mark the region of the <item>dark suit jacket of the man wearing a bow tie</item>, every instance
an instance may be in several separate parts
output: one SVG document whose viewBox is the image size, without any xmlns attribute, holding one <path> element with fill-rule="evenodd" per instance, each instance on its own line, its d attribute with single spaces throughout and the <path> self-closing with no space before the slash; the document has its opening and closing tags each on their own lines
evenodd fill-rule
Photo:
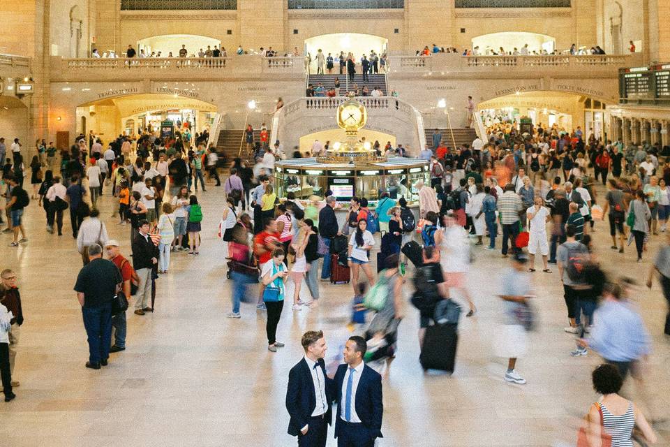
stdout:
<svg viewBox="0 0 670 447">
<path fill-rule="evenodd" d="M 332 423 L 332 402 L 333 402 L 333 379 L 326 375 L 326 367 L 323 359 L 319 359 L 318 364 L 321 367 L 323 376 L 326 379 L 326 413 L 325 420 Z M 309 365 L 303 358 L 291 368 L 288 373 L 288 388 L 286 390 L 286 409 L 291 416 L 288 423 L 288 434 L 297 436 L 302 427 L 307 425 L 309 418 L 314 412 L 316 406 L 316 395 L 314 393 L 314 382 Z"/>
</svg>

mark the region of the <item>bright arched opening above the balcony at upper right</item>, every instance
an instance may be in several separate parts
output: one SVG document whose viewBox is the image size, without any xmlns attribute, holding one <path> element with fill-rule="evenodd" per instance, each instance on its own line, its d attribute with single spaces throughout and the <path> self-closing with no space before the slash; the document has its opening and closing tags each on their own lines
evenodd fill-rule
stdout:
<svg viewBox="0 0 670 447">
<path fill-rule="evenodd" d="M 524 31 L 505 31 L 484 34 L 472 38 L 472 48 L 479 47 L 479 54 L 500 54 L 500 47 L 505 54 L 513 54 L 514 49 L 528 54 L 551 54 L 556 49 L 556 38 L 546 34 L 528 33 Z"/>
</svg>

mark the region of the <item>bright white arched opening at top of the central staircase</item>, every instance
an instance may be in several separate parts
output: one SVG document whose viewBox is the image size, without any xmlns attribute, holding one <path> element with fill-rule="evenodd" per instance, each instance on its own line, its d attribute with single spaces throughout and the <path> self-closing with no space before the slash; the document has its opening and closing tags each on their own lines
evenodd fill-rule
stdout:
<svg viewBox="0 0 670 447">
<path fill-rule="evenodd" d="M 315 59 L 319 49 L 325 53 L 325 56 L 331 53 L 333 57 L 343 51 L 344 54 L 354 54 L 358 61 L 363 54 L 370 54 L 371 50 L 377 54 L 383 54 L 388 50 L 388 44 L 389 40 L 387 38 L 374 36 L 373 34 L 322 34 L 321 36 L 305 39 L 305 52 L 311 54 L 312 59 Z"/>
</svg>

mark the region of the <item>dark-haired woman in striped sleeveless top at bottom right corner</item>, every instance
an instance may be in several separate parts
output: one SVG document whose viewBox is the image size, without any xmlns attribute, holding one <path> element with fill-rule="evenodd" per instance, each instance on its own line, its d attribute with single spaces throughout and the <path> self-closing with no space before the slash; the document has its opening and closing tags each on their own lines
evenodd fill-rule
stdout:
<svg viewBox="0 0 670 447">
<path fill-rule="evenodd" d="M 623 379 L 616 366 L 600 365 L 593 370 L 591 378 L 593 388 L 596 393 L 602 394 L 602 399 L 591 405 L 588 411 L 589 445 L 600 447 L 601 430 L 604 430 L 604 434 L 612 439 L 612 447 L 633 447 L 631 436 L 635 426 L 642 432 L 648 444 L 655 444 L 656 434 L 639 408 L 630 400 L 618 395 Z"/>
</svg>

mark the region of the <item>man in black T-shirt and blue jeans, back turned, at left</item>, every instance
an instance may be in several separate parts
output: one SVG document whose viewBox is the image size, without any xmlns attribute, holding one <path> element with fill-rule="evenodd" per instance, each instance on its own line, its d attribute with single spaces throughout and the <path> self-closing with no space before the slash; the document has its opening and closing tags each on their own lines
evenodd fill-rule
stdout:
<svg viewBox="0 0 670 447">
<path fill-rule="evenodd" d="M 82 306 L 84 328 L 89 342 L 89 361 L 86 367 L 107 366 L 112 335 L 112 300 L 121 285 L 121 273 L 114 263 L 103 259 L 103 247 L 87 247 L 89 263 L 77 276 L 75 291 Z"/>
</svg>

